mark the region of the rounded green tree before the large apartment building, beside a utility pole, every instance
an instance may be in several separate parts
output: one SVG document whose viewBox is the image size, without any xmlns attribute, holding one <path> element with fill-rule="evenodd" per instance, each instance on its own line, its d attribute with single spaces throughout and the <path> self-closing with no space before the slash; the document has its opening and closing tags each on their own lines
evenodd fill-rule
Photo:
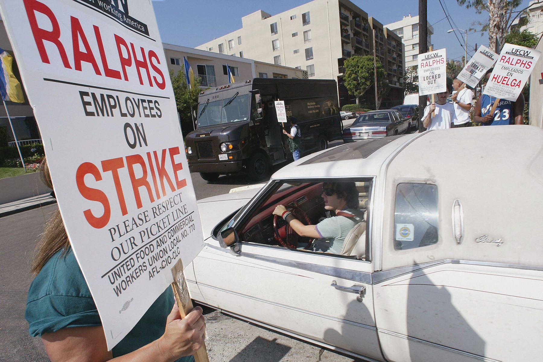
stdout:
<svg viewBox="0 0 543 362">
<path fill-rule="evenodd" d="M 345 87 L 351 96 L 356 97 L 356 104 L 360 104 L 360 97 L 374 84 L 373 56 L 351 56 L 351 58 L 345 60 L 343 66 L 345 67 L 345 74 L 343 75 Z M 377 60 L 377 84 L 381 84 L 386 78 L 387 73 L 384 71 L 381 62 Z"/>
</svg>

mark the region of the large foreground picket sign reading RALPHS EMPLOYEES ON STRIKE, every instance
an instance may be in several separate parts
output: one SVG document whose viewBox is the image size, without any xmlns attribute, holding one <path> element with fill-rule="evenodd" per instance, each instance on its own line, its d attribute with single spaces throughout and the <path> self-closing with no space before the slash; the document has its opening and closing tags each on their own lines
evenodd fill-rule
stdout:
<svg viewBox="0 0 543 362">
<path fill-rule="evenodd" d="M 203 247 L 153 5 L 113 3 L 0 0 L 110 350 Z"/>
</svg>

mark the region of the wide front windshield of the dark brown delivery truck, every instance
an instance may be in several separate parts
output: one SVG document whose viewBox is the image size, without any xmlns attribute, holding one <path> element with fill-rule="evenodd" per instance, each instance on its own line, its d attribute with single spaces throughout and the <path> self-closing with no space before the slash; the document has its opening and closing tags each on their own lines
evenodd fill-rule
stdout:
<svg viewBox="0 0 543 362">
<path fill-rule="evenodd" d="M 198 105 L 198 127 L 239 122 L 249 119 L 249 94 L 230 98 L 200 101 Z"/>
</svg>

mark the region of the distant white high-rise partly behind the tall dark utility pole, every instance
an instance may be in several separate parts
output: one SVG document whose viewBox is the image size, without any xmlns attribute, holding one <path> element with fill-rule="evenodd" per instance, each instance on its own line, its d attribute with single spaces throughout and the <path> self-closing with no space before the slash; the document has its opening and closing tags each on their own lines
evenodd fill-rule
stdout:
<svg viewBox="0 0 543 362">
<path fill-rule="evenodd" d="M 388 29 L 391 29 L 397 36 L 399 36 L 403 43 L 403 56 L 404 66 L 418 67 L 418 55 L 419 55 L 419 16 L 404 16 L 402 20 L 396 21 L 385 25 Z M 428 23 L 427 41 L 428 47 L 432 45 L 432 34 L 434 34 L 434 28 Z"/>
</svg>

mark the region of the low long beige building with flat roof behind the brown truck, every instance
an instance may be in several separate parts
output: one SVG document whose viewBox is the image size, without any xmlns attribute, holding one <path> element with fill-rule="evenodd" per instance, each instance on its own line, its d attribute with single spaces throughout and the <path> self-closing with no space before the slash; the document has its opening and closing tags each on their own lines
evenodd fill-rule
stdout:
<svg viewBox="0 0 543 362">
<path fill-rule="evenodd" d="M 200 78 L 200 86 L 217 87 L 228 84 L 228 69 L 235 81 L 253 78 L 307 78 L 303 69 L 290 68 L 238 56 L 217 54 L 194 48 L 162 43 L 168 69 L 177 74 L 184 69 L 186 56 L 195 77 Z"/>
</svg>

